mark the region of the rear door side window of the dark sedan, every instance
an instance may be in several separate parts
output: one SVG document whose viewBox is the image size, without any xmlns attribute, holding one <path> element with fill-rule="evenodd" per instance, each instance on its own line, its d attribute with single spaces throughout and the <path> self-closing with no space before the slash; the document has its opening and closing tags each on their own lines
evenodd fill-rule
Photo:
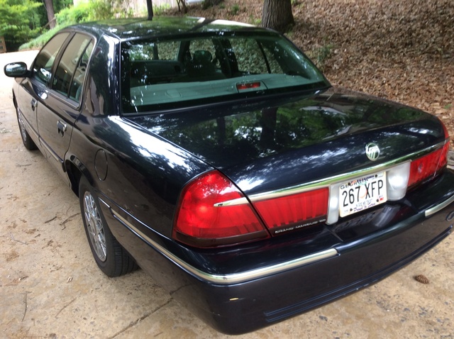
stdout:
<svg viewBox="0 0 454 339">
<path fill-rule="evenodd" d="M 85 55 L 92 38 L 77 33 L 63 52 L 52 80 L 52 89 L 65 96 L 78 100 L 77 91 L 82 87 L 89 55 Z M 93 47 L 91 48 L 93 50 Z M 70 90 L 71 89 L 71 90 Z"/>
</svg>

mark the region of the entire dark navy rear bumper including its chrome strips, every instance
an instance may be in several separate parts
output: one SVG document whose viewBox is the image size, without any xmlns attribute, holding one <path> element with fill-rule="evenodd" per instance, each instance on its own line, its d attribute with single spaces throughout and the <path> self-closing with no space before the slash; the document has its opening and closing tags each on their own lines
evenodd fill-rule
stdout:
<svg viewBox="0 0 454 339">
<path fill-rule="evenodd" d="M 239 334 L 372 284 L 443 240 L 454 219 L 454 174 L 309 238 L 225 252 L 183 251 L 140 233 L 108 204 L 103 209 L 117 239 L 156 282 L 217 330 Z"/>
</svg>

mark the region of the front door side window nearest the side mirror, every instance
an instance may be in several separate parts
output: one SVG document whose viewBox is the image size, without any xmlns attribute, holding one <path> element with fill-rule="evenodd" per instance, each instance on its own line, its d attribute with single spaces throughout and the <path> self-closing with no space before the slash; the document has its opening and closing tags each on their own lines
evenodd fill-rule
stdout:
<svg viewBox="0 0 454 339">
<path fill-rule="evenodd" d="M 35 62 L 33 63 L 33 75 L 35 79 L 46 86 L 49 84 L 50 76 L 52 75 L 52 65 L 55 57 L 57 57 L 57 54 L 63 43 L 65 43 L 68 35 L 70 35 L 70 33 L 55 35 L 55 37 L 49 40 L 36 56 Z"/>
</svg>

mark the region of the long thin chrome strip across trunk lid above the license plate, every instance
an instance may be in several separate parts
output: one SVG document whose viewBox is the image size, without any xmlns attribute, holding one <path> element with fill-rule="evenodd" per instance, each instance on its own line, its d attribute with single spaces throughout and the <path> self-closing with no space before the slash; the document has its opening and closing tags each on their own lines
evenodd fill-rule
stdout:
<svg viewBox="0 0 454 339">
<path fill-rule="evenodd" d="M 323 187 L 330 187 L 332 184 L 348 181 L 350 179 L 355 179 L 356 177 L 363 177 L 368 174 L 373 174 L 376 172 L 383 172 L 383 171 L 389 170 L 390 168 L 392 168 L 394 166 L 400 165 L 403 162 L 406 162 L 409 160 L 414 160 L 418 157 L 422 157 L 423 155 L 426 155 L 426 154 L 432 152 L 433 150 L 436 150 L 437 148 L 441 148 L 441 147 L 443 147 L 443 145 L 445 145 L 446 142 L 447 141 L 443 141 L 442 143 L 438 143 L 431 147 L 424 148 L 423 150 L 413 152 L 409 155 L 405 155 L 404 157 L 399 157 L 398 159 L 394 159 L 389 162 L 384 162 L 383 164 L 380 164 L 380 165 L 375 165 L 373 167 L 368 168 L 367 170 L 358 170 L 358 171 L 349 172 L 349 173 L 345 173 L 345 174 L 339 174 L 339 175 L 336 175 L 331 178 L 320 179 L 320 180 L 316 180 L 314 182 L 308 182 L 306 184 L 301 184 L 301 185 L 294 186 L 294 187 L 278 189 L 276 191 L 252 194 L 249 196 L 249 199 L 252 202 L 266 200 L 266 199 L 275 199 L 275 198 L 279 198 L 281 196 L 287 196 L 290 194 L 299 194 L 299 193 L 303 193 L 304 191 L 311 191 L 313 189 L 321 189 Z M 229 200 L 229 201 L 223 201 L 214 206 L 216 206 L 216 207 L 233 206 L 233 205 L 239 205 L 239 204 L 246 204 L 247 202 L 248 202 L 247 199 L 239 198 L 239 199 L 233 199 L 233 200 Z"/>
</svg>

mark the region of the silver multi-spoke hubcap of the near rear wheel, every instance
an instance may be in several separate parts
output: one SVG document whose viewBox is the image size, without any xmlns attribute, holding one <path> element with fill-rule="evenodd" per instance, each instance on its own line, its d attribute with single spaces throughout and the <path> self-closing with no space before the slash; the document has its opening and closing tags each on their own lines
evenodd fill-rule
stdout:
<svg viewBox="0 0 454 339">
<path fill-rule="evenodd" d="M 94 252 L 96 252 L 99 260 L 104 262 L 107 257 L 106 236 L 104 235 L 104 228 L 98 208 L 90 192 L 85 192 L 84 194 L 84 217 L 87 222 L 88 234 Z"/>
</svg>

